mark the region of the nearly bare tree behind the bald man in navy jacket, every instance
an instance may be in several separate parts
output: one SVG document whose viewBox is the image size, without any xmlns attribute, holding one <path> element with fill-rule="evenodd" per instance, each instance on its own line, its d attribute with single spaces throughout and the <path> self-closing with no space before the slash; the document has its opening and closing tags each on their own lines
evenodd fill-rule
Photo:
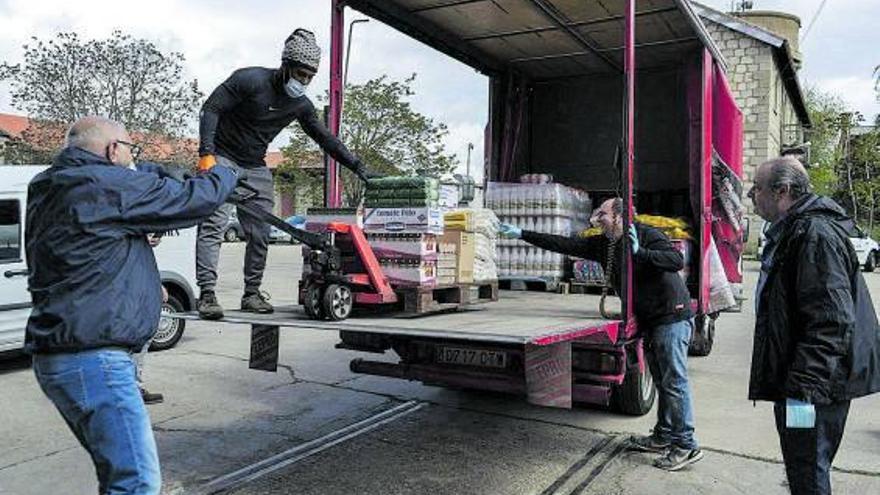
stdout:
<svg viewBox="0 0 880 495">
<path fill-rule="evenodd" d="M 0 63 L 0 80 L 11 84 L 12 106 L 32 119 L 29 145 L 54 150 L 61 144 L 57 127 L 102 115 L 125 124 L 148 151 L 192 154 L 180 138 L 192 130 L 203 94 L 196 80 L 184 79 L 182 54 L 120 31 L 103 40 L 73 32 L 34 37 L 23 49 L 22 63 Z"/>
</svg>

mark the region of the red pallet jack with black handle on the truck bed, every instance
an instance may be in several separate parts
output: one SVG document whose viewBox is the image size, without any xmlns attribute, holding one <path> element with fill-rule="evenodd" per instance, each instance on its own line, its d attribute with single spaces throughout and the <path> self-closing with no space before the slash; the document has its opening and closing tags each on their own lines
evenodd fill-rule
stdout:
<svg viewBox="0 0 880 495">
<path fill-rule="evenodd" d="M 398 296 L 357 225 L 328 223 L 324 232 L 309 232 L 283 219 L 246 203 L 257 194 L 246 183 L 229 201 L 254 218 L 290 234 L 308 248 L 309 270 L 299 283 L 299 301 L 306 315 L 313 320 L 341 321 L 351 315 L 355 304 L 385 305 L 398 301 Z"/>
</svg>

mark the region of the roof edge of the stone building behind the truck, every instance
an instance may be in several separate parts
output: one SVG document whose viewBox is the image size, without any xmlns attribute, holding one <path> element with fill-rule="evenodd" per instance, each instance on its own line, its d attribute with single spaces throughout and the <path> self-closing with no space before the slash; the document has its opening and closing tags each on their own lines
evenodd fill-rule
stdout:
<svg viewBox="0 0 880 495">
<path fill-rule="evenodd" d="M 788 40 L 768 31 L 760 26 L 746 22 L 738 17 L 725 14 L 724 12 L 707 7 L 703 4 L 693 2 L 694 10 L 697 15 L 703 19 L 720 24 L 728 29 L 754 38 L 764 44 L 770 45 L 773 51 L 773 61 L 779 69 L 782 77 L 782 83 L 785 86 L 785 92 L 788 94 L 798 120 L 804 127 L 812 127 L 810 114 L 807 112 L 807 105 L 804 101 L 804 94 L 801 91 L 801 85 L 798 81 L 797 70 L 794 66 L 794 58 L 792 57 L 791 47 Z"/>
</svg>

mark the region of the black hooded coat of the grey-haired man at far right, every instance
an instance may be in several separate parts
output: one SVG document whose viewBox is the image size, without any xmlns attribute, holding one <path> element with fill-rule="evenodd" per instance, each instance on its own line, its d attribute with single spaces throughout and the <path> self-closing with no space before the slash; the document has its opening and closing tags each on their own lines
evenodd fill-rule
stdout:
<svg viewBox="0 0 880 495">
<path fill-rule="evenodd" d="M 749 398 L 815 404 L 880 391 L 880 326 L 834 201 L 808 195 L 768 231 Z"/>
</svg>

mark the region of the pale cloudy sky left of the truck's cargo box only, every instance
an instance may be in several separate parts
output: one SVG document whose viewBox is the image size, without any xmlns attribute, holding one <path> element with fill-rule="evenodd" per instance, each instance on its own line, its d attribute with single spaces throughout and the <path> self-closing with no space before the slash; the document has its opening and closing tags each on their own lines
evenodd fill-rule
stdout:
<svg viewBox="0 0 880 495">
<path fill-rule="evenodd" d="M 362 17 L 346 11 L 347 21 Z M 297 27 L 314 31 L 323 49 L 321 70 L 311 88 L 313 95 L 321 94 L 329 81 L 327 0 L 151 0 L 137 9 L 122 9 L 112 0 L 9 0 L 0 3 L 0 60 L 20 61 L 21 45 L 31 36 L 45 39 L 72 30 L 83 38 L 102 38 L 120 29 L 150 39 L 163 50 L 183 53 L 186 77 L 197 78 L 207 94 L 239 67 L 276 66 L 284 38 Z M 449 125 L 448 150 L 464 163 L 468 141 L 482 148 L 482 130 L 471 130 L 482 129 L 486 122 L 486 78 L 378 21 L 355 27 L 350 82 L 383 74 L 402 79 L 414 72 L 414 108 Z M 0 112 L 15 111 L 8 90 L 8 85 L 0 85 Z M 281 135 L 272 147 L 286 142 Z"/>
</svg>

